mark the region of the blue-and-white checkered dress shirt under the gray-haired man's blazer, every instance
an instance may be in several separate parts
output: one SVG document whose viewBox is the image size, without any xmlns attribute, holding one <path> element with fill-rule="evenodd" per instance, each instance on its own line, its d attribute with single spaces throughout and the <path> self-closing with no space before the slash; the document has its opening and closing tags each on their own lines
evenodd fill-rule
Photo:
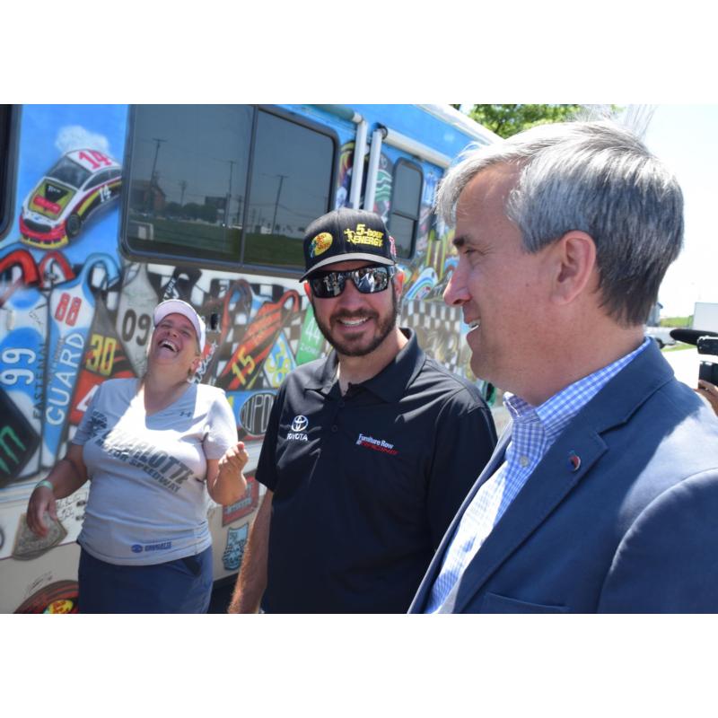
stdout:
<svg viewBox="0 0 718 718">
<path fill-rule="evenodd" d="M 635 351 L 598 372 L 574 381 L 539 407 L 532 407 L 511 394 L 504 396 L 504 403 L 512 416 L 512 437 L 506 446 L 503 464 L 479 488 L 461 517 L 444 555 L 442 569 L 433 584 L 425 613 L 441 609 L 460 575 L 566 425 L 650 343 L 651 339 L 645 339 Z"/>
</svg>

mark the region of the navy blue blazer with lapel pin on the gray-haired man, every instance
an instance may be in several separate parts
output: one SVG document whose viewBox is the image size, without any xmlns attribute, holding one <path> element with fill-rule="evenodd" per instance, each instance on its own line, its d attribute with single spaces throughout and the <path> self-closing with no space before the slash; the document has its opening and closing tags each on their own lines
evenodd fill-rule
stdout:
<svg viewBox="0 0 718 718">
<path fill-rule="evenodd" d="M 410 613 L 424 610 L 460 517 L 509 439 L 451 522 Z M 442 610 L 718 612 L 718 419 L 657 346 L 574 417 Z"/>
</svg>

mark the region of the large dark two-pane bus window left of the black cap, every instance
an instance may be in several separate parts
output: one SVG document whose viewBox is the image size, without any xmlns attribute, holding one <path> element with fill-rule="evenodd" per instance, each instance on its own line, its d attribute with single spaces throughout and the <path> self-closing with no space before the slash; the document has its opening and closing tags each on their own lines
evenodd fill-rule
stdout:
<svg viewBox="0 0 718 718">
<path fill-rule="evenodd" d="M 302 268 L 304 228 L 330 204 L 332 136 L 251 105 L 140 105 L 132 127 L 130 252 Z"/>
</svg>

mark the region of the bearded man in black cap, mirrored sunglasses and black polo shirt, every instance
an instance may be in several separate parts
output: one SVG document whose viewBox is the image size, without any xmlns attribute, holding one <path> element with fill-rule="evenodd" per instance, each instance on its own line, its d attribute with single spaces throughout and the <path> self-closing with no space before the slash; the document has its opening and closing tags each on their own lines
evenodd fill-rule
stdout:
<svg viewBox="0 0 718 718">
<path fill-rule="evenodd" d="M 339 209 L 304 238 L 317 324 L 334 351 L 279 390 L 257 468 L 267 495 L 230 612 L 404 612 L 491 456 L 474 386 L 397 327 L 394 241 Z"/>
</svg>

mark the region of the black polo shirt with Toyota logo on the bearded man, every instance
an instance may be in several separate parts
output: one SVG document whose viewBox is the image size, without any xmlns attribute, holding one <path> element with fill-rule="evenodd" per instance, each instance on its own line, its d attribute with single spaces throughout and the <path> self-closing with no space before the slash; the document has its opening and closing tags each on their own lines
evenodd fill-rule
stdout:
<svg viewBox="0 0 718 718">
<path fill-rule="evenodd" d="M 404 612 L 494 450 L 478 390 L 409 337 L 342 396 L 337 355 L 279 390 L 257 479 L 274 492 L 270 612 Z"/>
</svg>

